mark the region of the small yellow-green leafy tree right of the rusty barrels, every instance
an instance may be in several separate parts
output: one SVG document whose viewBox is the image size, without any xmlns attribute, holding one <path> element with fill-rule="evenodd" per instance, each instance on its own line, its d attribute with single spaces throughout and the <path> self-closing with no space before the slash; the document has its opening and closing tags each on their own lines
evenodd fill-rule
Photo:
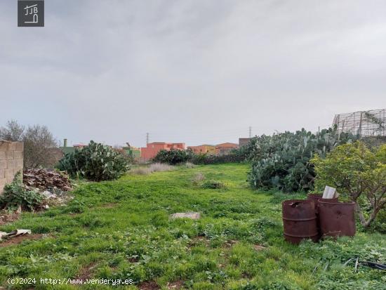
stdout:
<svg viewBox="0 0 386 290">
<path fill-rule="evenodd" d="M 386 145 L 371 151 L 364 143 L 340 145 L 328 153 L 325 159 L 319 156 L 311 161 L 317 178 L 315 187 L 322 190 L 325 185 L 335 187 L 356 203 L 359 220 L 368 227 L 386 204 Z M 364 197 L 371 209 L 365 216 L 359 200 Z"/>
</svg>

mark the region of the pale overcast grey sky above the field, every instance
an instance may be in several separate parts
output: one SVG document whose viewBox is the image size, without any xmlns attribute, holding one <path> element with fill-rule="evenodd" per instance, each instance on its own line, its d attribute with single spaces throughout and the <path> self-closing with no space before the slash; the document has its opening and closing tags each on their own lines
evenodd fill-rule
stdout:
<svg viewBox="0 0 386 290">
<path fill-rule="evenodd" d="M 0 1 L 0 125 L 110 145 L 237 142 L 386 107 L 386 1 Z"/>
</svg>

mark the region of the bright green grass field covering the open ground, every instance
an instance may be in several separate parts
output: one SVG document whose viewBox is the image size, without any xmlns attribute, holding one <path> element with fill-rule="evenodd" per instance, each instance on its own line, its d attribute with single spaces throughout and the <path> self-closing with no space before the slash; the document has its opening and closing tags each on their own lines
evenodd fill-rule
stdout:
<svg viewBox="0 0 386 290">
<path fill-rule="evenodd" d="M 342 265 L 354 257 L 385 262 L 385 235 L 359 229 L 337 242 L 288 244 L 281 201 L 305 195 L 255 192 L 247 171 L 246 164 L 222 164 L 82 183 L 67 206 L 23 213 L 0 227 L 46 234 L 0 247 L 0 285 L 79 287 L 39 284 L 71 277 L 133 279 L 128 289 L 385 289 L 385 272 Z M 194 185 L 197 172 L 227 188 Z M 169 220 L 182 211 L 199 211 L 201 219 Z M 10 285 L 9 277 L 36 278 L 36 285 Z"/>
</svg>

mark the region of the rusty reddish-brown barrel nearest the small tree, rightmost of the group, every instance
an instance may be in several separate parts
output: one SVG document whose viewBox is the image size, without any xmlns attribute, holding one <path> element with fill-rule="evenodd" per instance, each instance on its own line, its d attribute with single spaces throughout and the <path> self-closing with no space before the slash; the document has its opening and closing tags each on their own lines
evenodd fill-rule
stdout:
<svg viewBox="0 0 386 290">
<path fill-rule="evenodd" d="M 319 202 L 319 223 L 323 236 L 355 235 L 354 202 Z"/>
</svg>

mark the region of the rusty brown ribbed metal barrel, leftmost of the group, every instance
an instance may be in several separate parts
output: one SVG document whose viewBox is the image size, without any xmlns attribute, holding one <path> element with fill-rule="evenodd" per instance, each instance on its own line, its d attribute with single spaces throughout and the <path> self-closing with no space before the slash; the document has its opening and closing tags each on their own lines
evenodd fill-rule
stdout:
<svg viewBox="0 0 386 290">
<path fill-rule="evenodd" d="M 319 239 L 317 216 L 311 200 L 291 199 L 281 204 L 283 213 L 284 238 L 293 244 L 302 239 Z"/>
</svg>

